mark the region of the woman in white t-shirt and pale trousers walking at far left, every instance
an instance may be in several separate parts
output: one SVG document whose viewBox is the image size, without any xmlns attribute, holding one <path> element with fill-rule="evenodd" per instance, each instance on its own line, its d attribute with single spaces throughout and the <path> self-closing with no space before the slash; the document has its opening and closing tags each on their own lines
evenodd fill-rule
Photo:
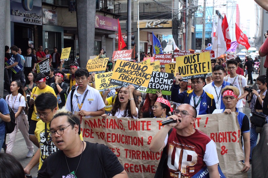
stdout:
<svg viewBox="0 0 268 178">
<path fill-rule="evenodd" d="M 33 143 L 30 141 L 28 134 L 29 130 L 28 117 L 27 115 L 25 115 L 25 112 L 23 110 L 23 108 L 26 106 L 24 87 L 22 86 L 22 83 L 20 81 L 12 81 L 10 85 L 10 91 L 12 93 L 6 96 L 6 102 L 8 103 L 8 106 L 15 113 L 16 118 L 15 123 L 17 125 L 15 126 L 14 131 L 9 134 L 6 153 L 11 154 L 15 143 L 16 134 L 19 129 L 25 139 L 27 148 L 29 149 L 26 157 L 30 158 L 33 156 L 34 150 L 33 150 Z"/>
</svg>

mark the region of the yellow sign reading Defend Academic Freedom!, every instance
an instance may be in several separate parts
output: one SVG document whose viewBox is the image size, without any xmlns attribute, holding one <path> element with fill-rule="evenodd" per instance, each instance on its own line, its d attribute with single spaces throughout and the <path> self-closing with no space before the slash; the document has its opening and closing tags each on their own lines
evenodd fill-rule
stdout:
<svg viewBox="0 0 268 178">
<path fill-rule="evenodd" d="M 106 66 L 109 58 L 100 58 L 97 56 L 95 59 L 89 59 L 87 61 L 87 67 L 89 74 L 95 72 L 96 74 L 104 73 L 106 71 Z"/>
</svg>

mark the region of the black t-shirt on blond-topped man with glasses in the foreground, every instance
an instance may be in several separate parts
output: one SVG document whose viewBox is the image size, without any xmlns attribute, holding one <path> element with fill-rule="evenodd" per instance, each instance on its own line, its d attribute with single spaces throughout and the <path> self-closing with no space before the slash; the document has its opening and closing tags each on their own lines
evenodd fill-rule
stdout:
<svg viewBox="0 0 268 178">
<path fill-rule="evenodd" d="M 101 155 L 107 177 L 113 177 L 124 170 L 116 155 L 108 146 L 101 145 Z M 73 174 L 77 168 L 80 157 L 81 155 L 74 158 L 66 157 L 70 172 Z M 67 163 L 63 151 L 58 150 L 47 157 L 41 169 L 38 171 L 37 177 L 74 177 L 74 175 L 70 174 Z M 103 177 L 102 172 L 97 144 L 86 141 L 86 148 L 83 151 L 81 161 L 77 168 L 76 177 Z"/>
</svg>

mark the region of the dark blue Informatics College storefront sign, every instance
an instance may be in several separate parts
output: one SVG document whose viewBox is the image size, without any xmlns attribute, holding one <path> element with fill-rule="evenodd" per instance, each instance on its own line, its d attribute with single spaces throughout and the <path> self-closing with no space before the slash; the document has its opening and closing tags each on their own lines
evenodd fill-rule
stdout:
<svg viewBox="0 0 268 178">
<path fill-rule="evenodd" d="M 42 1 L 10 0 L 10 21 L 42 25 Z"/>
</svg>

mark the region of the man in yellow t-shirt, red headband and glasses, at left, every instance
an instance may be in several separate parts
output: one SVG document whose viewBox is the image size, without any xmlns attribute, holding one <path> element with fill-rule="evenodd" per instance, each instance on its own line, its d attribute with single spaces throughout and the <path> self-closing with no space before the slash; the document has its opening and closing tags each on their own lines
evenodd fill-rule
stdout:
<svg viewBox="0 0 268 178">
<path fill-rule="evenodd" d="M 41 93 L 45 93 L 45 92 L 51 92 L 55 96 L 55 98 L 57 99 L 57 96 L 56 96 L 53 88 L 46 85 L 46 76 L 43 73 L 36 74 L 35 85 L 36 85 L 36 87 L 33 88 L 31 98 L 30 98 L 31 100 L 29 101 L 30 105 L 32 105 L 34 103 L 34 100 L 38 95 L 40 95 Z M 33 114 L 31 117 L 31 122 L 30 122 L 30 126 L 29 126 L 29 138 L 39 148 L 39 143 L 38 143 L 38 141 L 35 137 L 35 133 L 34 133 L 36 123 L 38 121 L 40 121 L 40 118 L 38 115 L 36 115 L 36 107 L 34 106 Z"/>
</svg>

